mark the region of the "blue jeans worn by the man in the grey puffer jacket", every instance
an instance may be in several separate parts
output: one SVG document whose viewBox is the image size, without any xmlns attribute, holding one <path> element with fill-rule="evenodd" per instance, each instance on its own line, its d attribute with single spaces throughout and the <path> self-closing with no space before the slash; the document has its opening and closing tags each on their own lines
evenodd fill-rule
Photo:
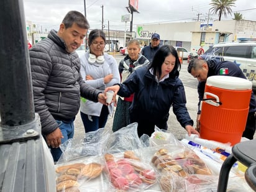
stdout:
<svg viewBox="0 0 256 192">
<path fill-rule="evenodd" d="M 70 121 L 70 122 L 64 122 L 64 121 L 59 121 L 56 120 L 56 122 L 58 123 L 58 127 L 60 128 L 60 130 L 62 131 L 62 144 L 68 140 L 68 139 L 72 139 L 74 136 L 74 121 Z M 52 148 L 51 149 L 51 153 L 52 153 L 52 157 L 54 162 L 58 162 L 59 158 L 62 156 L 62 150 L 60 150 L 60 147 L 58 148 Z"/>
</svg>

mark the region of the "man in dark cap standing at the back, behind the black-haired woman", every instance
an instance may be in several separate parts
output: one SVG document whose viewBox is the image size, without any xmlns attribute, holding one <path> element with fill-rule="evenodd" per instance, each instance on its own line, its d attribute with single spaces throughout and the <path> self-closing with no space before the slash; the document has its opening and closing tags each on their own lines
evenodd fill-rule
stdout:
<svg viewBox="0 0 256 192">
<path fill-rule="evenodd" d="M 153 56 L 155 55 L 155 52 L 159 49 L 159 43 L 160 43 L 160 35 L 157 33 L 152 34 L 151 41 L 148 46 L 142 48 L 142 55 L 145 56 L 149 60 L 150 63 L 152 63 Z"/>
</svg>

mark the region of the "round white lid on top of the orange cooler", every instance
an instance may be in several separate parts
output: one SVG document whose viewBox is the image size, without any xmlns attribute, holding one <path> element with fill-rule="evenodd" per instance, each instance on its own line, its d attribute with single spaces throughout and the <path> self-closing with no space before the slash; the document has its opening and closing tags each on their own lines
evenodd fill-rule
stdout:
<svg viewBox="0 0 256 192">
<path fill-rule="evenodd" d="M 215 75 L 209 76 L 206 85 L 229 90 L 252 89 L 252 82 L 235 76 Z"/>
</svg>

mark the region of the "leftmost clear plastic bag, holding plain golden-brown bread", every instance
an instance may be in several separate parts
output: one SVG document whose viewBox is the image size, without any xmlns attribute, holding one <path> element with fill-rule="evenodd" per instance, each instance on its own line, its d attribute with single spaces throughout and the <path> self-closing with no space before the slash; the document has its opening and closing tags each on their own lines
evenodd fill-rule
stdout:
<svg viewBox="0 0 256 192">
<path fill-rule="evenodd" d="M 57 192 L 106 191 L 103 177 L 102 156 L 91 156 L 80 160 L 59 163 L 55 166 Z"/>
</svg>

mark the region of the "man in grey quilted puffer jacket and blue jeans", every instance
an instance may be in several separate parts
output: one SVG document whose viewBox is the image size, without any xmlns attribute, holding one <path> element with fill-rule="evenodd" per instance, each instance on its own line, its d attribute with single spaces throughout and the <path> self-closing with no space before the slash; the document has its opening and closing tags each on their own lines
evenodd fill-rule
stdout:
<svg viewBox="0 0 256 192">
<path fill-rule="evenodd" d="M 80 75 L 80 59 L 75 52 L 89 29 L 85 16 L 70 11 L 60 29 L 30 49 L 30 65 L 35 112 L 39 113 L 42 135 L 50 146 L 53 160 L 62 155 L 59 146 L 73 138 L 73 121 L 81 96 L 106 104 L 103 93 L 86 85 Z"/>
</svg>

